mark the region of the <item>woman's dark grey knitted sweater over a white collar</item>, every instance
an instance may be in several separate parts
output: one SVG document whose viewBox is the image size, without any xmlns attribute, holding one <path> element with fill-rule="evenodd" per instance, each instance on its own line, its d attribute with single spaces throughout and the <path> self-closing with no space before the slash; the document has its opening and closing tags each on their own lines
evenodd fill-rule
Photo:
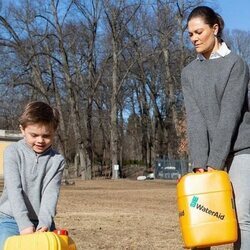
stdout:
<svg viewBox="0 0 250 250">
<path fill-rule="evenodd" d="M 236 54 L 194 60 L 182 71 L 193 167 L 223 169 L 230 154 L 250 153 L 249 69 Z"/>
</svg>

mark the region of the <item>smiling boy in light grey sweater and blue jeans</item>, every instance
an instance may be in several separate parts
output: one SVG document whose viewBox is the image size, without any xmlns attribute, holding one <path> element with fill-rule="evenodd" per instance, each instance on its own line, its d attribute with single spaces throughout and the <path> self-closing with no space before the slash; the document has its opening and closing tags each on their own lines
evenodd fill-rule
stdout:
<svg viewBox="0 0 250 250">
<path fill-rule="evenodd" d="M 52 148 L 59 113 L 44 102 L 27 104 L 20 119 L 23 139 L 4 152 L 0 198 L 0 250 L 12 235 L 55 229 L 64 159 Z"/>
</svg>

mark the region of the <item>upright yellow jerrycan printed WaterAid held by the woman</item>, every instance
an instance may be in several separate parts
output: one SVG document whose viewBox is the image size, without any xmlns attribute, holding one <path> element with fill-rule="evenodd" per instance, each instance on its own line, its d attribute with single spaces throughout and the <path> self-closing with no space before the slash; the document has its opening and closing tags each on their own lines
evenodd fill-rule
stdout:
<svg viewBox="0 0 250 250">
<path fill-rule="evenodd" d="M 185 248 L 229 244 L 237 240 L 237 219 L 228 174 L 189 173 L 177 184 L 179 222 Z"/>
</svg>

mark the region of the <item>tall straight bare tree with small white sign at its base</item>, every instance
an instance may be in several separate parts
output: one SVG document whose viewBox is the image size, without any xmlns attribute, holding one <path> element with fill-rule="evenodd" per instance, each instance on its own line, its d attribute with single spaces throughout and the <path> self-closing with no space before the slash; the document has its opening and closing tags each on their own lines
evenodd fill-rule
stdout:
<svg viewBox="0 0 250 250">
<path fill-rule="evenodd" d="M 112 176 L 115 176 L 114 166 L 118 165 L 118 93 L 125 79 L 127 72 L 124 76 L 119 76 L 119 57 L 124 50 L 123 38 L 127 31 L 127 25 L 135 16 L 139 9 L 138 4 L 126 4 L 126 1 L 120 0 L 116 5 L 112 1 L 106 0 L 104 3 L 104 12 L 107 18 L 107 23 L 110 29 L 111 38 L 111 54 L 112 54 L 112 93 L 111 93 L 111 134 L 110 134 L 110 152 L 111 152 L 111 165 Z M 129 69 L 129 68 L 128 68 Z"/>
</svg>

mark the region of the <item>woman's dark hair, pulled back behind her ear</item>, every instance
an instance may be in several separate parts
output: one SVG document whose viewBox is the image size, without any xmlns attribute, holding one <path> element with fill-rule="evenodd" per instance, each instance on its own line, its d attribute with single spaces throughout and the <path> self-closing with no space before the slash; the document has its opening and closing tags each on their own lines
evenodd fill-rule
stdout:
<svg viewBox="0 0 250 250">
<path fill-rule="evenodd" d="M 200 17 L 204 20 L 206 24 L 210 27 L 213 27 L 215 24 L 218 24 L 219 30 L 217 33 L 217 38 L 219 41 L 222 41 L 222 31 L 224 29 L 224 20 L 223 18 L 216 13 L 213 9 L 208 6 L 198 6 L 194 8 L 188 16 L 187 22 L 192 18 Z"/>
</svg>

